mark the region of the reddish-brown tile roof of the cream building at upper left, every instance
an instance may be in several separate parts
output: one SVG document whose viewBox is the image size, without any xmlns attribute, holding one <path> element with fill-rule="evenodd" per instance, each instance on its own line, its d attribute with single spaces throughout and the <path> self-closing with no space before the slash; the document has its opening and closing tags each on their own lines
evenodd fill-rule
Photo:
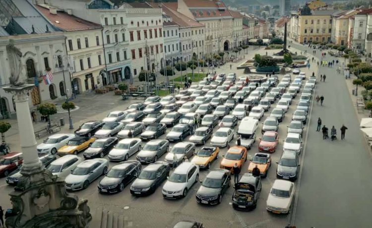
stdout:
<svg viewBox="0 0 372 228">
<path fill-rule="evenodd" d="M 88 29 L 99 29 L 101 25 L 83 20 L 81 18 L 69 15 L 68 13 L 57 11 L 57 14 L 49 12 L 48 8 L 36 5 L 36 8 L 47 17 L 47 19 L 56 27 L 64 31 L 79 31 Z"/>
</svg>

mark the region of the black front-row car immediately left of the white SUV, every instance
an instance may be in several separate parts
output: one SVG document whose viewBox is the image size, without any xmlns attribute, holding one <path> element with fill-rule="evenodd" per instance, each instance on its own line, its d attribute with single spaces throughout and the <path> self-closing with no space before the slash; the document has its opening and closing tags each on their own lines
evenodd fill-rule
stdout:
<svg viewBox="0 0 372 228">
<path fill-rule="evenodd" d="M 150 195 L 169 176 L 171 167 L 166 162 L 155 162 L 144 168 L 130 186 L 130 194 Z"/>
</svg>

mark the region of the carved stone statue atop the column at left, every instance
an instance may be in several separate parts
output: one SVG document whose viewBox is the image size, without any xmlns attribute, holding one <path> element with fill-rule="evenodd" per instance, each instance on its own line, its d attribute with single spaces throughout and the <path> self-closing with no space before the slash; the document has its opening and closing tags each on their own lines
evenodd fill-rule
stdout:
<svg viewBox="0 0 372 228">
<path fill-rule="evenodd" d="M 9 67 L 10 67 L 10 84 L 13 86 L 21 86 L 24 84 L 24 80 L 21 77 L 22 65 L 21 57 L 22 52 L 14 46 L 14 40 L 9 40 L 9 44 L 6 45 L 6 53 L 8 56 Z"/>
</svg>

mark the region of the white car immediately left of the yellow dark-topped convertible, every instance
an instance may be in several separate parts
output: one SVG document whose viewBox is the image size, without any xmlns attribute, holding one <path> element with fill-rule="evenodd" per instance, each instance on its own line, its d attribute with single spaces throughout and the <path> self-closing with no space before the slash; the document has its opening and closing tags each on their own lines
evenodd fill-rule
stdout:
<svg viewBox="0 0 372 228">
<path fill-rule="evenodd" d="M 36 149 L 38 153 L 51 153 L 56 154 L 57 151 L 62 147 L 65 146 L 68 140 L 75 137 L 74 134 L 55 134 L 49 136 L 47 139 L 44 140 L 43 143 L 39 144 Z"/>
</svg>

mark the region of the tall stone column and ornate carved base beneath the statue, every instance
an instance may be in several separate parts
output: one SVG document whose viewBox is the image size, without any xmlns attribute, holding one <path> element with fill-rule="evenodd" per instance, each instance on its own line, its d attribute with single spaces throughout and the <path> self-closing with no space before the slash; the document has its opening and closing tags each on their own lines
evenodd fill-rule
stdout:
<svg viewBox="0 0 372 228">
<path fill-rule="evenodd" d="M 20 144 L 23 153 L 22 177 L 11 192 L 12 214 L 6 219 L 7 228 L 84 228 L 91 221 L 87 200 L 64 189 L 64 181 L 44 170 L 36 151 L 36 139 L 28 107 L 28 93 L 34 85 L 3 87 L 14 95 Z"/>
</svg>

